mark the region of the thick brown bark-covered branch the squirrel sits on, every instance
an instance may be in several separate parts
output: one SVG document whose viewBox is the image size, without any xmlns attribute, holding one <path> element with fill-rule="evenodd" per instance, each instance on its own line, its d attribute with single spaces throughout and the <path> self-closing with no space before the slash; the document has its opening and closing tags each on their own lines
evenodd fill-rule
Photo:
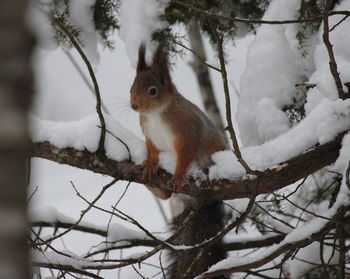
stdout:
<svg viewBox="0 0 350 279">
<path fill-rule="evenodd" d="M 257 195 L 271 193 L 332 164 L 339 155 L 343 135 L 344 133 L 329 143 L 318 145 L 291 160 L 281 162 L 278 166 L 265 170 L 257 177 L 237 178 L 231 181 L 222 179 L 211 182 L 215 187 L 210 187 L 207 181 L 201 182 L 200 187 L 198 187 L 198 182 L 189 179 L 181 193 L 195 198 L 214 200 L 250 198 L 253 193 Z M 118 177 L 120 180 L 145 183 L 141 180 L 142 169 L 140 166 L 128 161 L 116 162 L 86 150 L 58 148 L 48 142 L 41 142 L 33 144 L 32 156 Z M 171 191 L 173 189 L 172 175 L 160 169 L 159 175 L 155 179 L 147 181 L 147 185 Z"/>
</svg>

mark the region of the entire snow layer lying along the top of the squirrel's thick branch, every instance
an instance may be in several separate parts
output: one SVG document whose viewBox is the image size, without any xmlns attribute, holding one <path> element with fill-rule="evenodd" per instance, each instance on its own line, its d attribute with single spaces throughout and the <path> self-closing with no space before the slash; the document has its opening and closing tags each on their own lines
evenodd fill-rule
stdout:
<svg viewBox="0 0 350 279">
<path fill-rule="evenodd" d="M 108 115 L 105 118 L 107 130 L 127 143 L 132 160 L 136 164 L 141 164 L 147 154 L 144 141 Z M 34 142 L 48 141 L 59 148 L 73 147 L 94 152 L 97 150 L 100 137 L 99 125 L 97 114 L 72 122 L 53 122 L 32 116 L 32 139 Z M 349 128 L 350 100 L 331 101 L 325 98 L 293 129 L 262 145 L 244 148 L 241 152 L 250 167 L 264 170 L 273 168 L 274 165 L 289 160 L 316 144 L 329 142 L 340 132 Z M 116 161 L 128 159 L 129 154 L 125 146 L 109 133 L 106 134 L 105 147 L 109 158 Z M 159 165 L 170 173 L 174 173 L 175 158 L 174 152 L 162 152 Z M 234 179 L 245 174 L 243 167 L 231 151 L 215 153 L 212 155 L 212 160 L 214 165 L 209 169 L 211 180 Z M 194 177 L 205 179 L 195 162 L 188 172 Z"/>
</svg>

